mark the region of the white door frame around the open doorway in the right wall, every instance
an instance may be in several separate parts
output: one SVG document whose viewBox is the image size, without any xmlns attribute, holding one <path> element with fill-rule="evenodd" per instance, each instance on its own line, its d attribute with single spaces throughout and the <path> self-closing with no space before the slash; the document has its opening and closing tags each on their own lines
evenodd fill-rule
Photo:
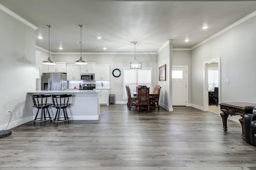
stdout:
<svg viewBox="0 0 256 170">
<path fill-rule="evenodd" d="M 220 100 L 220 57 L 218 58 L 215 58 L 215 59 L 211 59 L 211 60 L 208 60 L 208 61 L 204 61 L 204 65 L 203 65 L 203 68 L 204 68 L 204 73 L 203 73 L 203 82 L 204 82 L 204 109 L 203 111 L 209 111 L 209 106 L 208 106 L 208 65 L 207 64 L 210 64 L 210 63 L 214 63 L 218 61 L 218 87 L 219 87 L 219 90 L 218 90 L 218 102 L 220 103 L 221 100 Z M 219 114 L 220 114 L 220 109 L 219 109 Z"/>
</svg>

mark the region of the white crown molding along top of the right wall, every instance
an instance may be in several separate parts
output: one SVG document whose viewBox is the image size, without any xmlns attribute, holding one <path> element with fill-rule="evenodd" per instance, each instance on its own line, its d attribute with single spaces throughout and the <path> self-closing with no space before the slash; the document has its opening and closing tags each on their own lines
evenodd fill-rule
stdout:
<svg viewBox="0 0 256 170">
<path fill-rule="evenodd" d="M 220 34 L 223 34 L 224 32 L 226 32 L 226 31 L 228 31 L 228 30 L 234 28 L 235 26 L 238 26 L 239 24 L 245 22 L 246 20 L 249 20 L 250 18 L 252 18 L 252 17 L 254 17 L 254 16 L 256 16 L 256 11 L 254 11 L 254 12 L 252 12 L 251 14 L 245 16 L 244 18 L 238 20 L 237 22 L 234 22 L 234 23 L 231 24 L 230 26 L 228 26 L 228 27 L 224 28 L 223 30 L 217 32 L 216 34 L 210 36 L 209 38 L 205 39 L 204 41 L 202 41 L 202 42 L 200 42 L 200 43 L 194 45 L 193 47 L 191 47 L 191 50 L 192 50 L 192 49 L 195 49 L 196 47 L 199 47 L 200 45 L 202 45 L 202 44 L 204 44 L 204 43 L 206 43 L 206 42 L 208 42 L 208 41 L 210 41 L 210 40 L 212 40 L 213 38 L 219 36 Z"/>
</svg>

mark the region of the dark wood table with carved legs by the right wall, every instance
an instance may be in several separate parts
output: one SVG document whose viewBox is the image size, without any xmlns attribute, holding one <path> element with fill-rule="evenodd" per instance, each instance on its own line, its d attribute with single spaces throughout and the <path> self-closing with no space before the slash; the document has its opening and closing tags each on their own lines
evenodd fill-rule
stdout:
<svg viewBox="0 0 256 170">
<path fill-rule="evenodd" d="M 254 106 L 256 106 L 255 103 L 246 103 L 246 102 L 229 102 L 229 103 L 220 103 L 220 110 L 222 113 L 220 113 L 220 116 L 222 117 L 222 123 L 223 123 L 223 130 L 227 131 L 227 119 L 228 115 L 240 115 L 242 118 L 239 119 L 241 125 L 242 125 L 242 139 L 244 138 L 244 115 L 246 113 L 252 113 L 252 110 Z"/>
</svg>

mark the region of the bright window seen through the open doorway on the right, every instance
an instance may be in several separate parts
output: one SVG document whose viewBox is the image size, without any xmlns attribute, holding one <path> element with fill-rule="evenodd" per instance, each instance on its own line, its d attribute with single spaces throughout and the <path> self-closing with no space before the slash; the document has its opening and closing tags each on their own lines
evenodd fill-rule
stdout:
<svg viewBox="0 0 256 170">
<path fill-rule="evenodd" d="M 218 68 L 208 69 L 208 91 L 214 91 L 214 87 L 218 87 L 219 83 Z"/>
</svg>

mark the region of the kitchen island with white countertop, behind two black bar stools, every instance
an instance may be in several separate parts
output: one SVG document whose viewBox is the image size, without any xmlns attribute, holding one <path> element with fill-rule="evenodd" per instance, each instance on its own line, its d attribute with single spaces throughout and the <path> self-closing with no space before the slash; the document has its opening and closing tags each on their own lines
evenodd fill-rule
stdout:
<svg viewBox="0 0 256 170">
<path fill-rule="evenodd" d="M 66 89 L 64 91 L 32 91 L 27 92 L 26 107 L 33 113 L 33 119 L 36 116 L 37 109 L 33 108 L 32 95 L 47 94 L 47 95 L 60 95 L 71 94 L 70 107 L 67 108 L 68 117 L 70 120 L 98 120 L 100 119 L 100 103 L 99 93 L 101 90 L 76 90 Z M 52 102 L 52 99 L 48 103 Z M 55 115 L 56 109 L 50 107 L 50 114 Z"/>
</svg>

